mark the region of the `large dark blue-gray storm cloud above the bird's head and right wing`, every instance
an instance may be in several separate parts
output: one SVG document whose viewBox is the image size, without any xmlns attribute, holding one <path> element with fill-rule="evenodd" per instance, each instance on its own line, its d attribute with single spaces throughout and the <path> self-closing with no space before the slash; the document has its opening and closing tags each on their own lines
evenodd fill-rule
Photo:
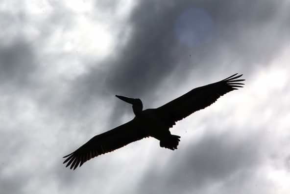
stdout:
<svg viewBox="0 0 290 194">
<path fill-rule="evenodd" d="M 173 75 L 179 82 L 193 69 L 206 75 L 226 69 L 249 73 L 253 64 L 276 56 L 289 38 L 289 14 L 279 15 L 282 5 L 270 0 L 140 1 L 130 16 L 127 44 L 114 59 L 103 61 L 105 71 L 93 68 L 81 84 L 89 95 L 97 86 L 106 88 L 106 95 L 152 98 L 165 78 Z M 212 37 L 188 47 L 176 36 L 176 22 L 196 7 L 211 17 Z"/>
</svg>

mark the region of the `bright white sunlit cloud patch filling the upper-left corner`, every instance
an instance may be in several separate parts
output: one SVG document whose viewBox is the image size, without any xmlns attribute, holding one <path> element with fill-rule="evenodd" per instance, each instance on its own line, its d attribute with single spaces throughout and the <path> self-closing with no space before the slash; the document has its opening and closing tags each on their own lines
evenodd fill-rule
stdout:
<svg viewBox="0 0 290 194">
<path fill-rule="evenodd" d="M 61 54 L 49 66 L 72 79 L 85 73 L 87 65 L 96 66 L 109 55 L 113 57 L 115 49 L 126 43 L 130 27 L 123 25 L 134 6 L 133 0 L 121 0 L 113 10 L 110 3 L 98 6 L 94 0 L 1 2 L 2 18 L 11 12 L 9 19 L 14 22 L 2 23 L 0 39 L 3 45 L 10 45 L 16 37 L 25 37 L 38 48 L 39 65 L 47 64 L 43 58 Z"/>
</svg>

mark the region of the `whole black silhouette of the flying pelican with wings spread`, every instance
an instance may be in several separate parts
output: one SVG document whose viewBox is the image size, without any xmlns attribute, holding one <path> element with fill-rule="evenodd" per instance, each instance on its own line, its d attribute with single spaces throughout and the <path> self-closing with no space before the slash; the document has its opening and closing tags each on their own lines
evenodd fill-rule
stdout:
<svg viewBox="0 0 290 194">
<path fill-rule="evenodd" d="M 132 104 L 135 117 L 119 127 L 93 137 L 73 153 L 64 156 L 66 159 L 63 163 L 68 163 L 66 167 L 70 166 L 74 170 L 96 156 L 147 137 L 158 139 L 161 147 L 177 149 L 180 136 L 171 135 L 169 128 L 193 112 L 210 106 L 220 96 L 242 87 L 244 83 L 241 82 L 245 80 L 238 79 L 240 77 L 242 75 L 234 74 L 219 82 L 194 88 L 157 109 L 144 111 L 140 99 L 116 95 Z"/>
</svg>

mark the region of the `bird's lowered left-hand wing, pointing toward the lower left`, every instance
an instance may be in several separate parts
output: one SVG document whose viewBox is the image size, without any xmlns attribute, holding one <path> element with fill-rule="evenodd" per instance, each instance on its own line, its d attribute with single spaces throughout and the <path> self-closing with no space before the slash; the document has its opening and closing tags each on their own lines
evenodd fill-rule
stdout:
<svg viewBox="0 0 290 194">
<path fill-rule="evenodd" d="M 63 163 L 68 163 L 75 169 L 78 165 L 82 166 L 86 161 L 107 152 L 114 151 L 133 141 L 148 137 L 145 130 L 142 130 L 139 120 L 133 119 L 110 131 L 97 135 L 79 147 L 73 153 L 64 156 L 67 158 Z"/>
</svg>

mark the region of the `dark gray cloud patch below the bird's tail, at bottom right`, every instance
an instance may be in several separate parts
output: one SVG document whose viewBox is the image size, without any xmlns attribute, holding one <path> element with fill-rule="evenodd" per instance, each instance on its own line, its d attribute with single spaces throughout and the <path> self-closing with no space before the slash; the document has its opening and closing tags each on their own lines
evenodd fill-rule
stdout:
<svg viewBox="0 0 290 194">
<path fill-rule="evenodd" d="M 181 192 L 181 188 L 183 193 L 203 193 L 212 185 L 226 184 L 240 176 L 249 178 L 257 173 L 263 163 L 265 145 L 263 137 L 259 137 L 261 134 L 240 139 L 229 129 L 225 131 L 205 134 L 186 149 L 172 153 L 165 164 L 167 167 L 158 169 L 152 165 L 154 167 L 146 171 L 137 191 L 132 193 L 174 194 Z M 238 190 L 236 188 L 235 192 Z"/>
</svg>

